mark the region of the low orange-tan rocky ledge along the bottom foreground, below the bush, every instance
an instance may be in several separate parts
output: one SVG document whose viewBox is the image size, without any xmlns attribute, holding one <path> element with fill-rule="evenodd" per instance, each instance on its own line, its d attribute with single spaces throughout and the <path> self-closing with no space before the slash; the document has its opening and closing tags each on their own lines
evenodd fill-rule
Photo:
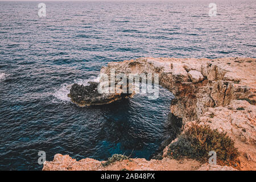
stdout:
<svg viewBox="0 0 256 182">
<path fill-rule="evenodd" d="M 102 162 L 90 158 L 76 161 L 68 155 L 56 154 L 52 162 L 47 162 L 43 170 L 46 171 L 234 171 L 236 169 L 228 166 L 200 164 L 196 160 L 183 159 L 175 160 L 164 158 L 163 160 L 146 160 L 146 159 L 127 159 L 121 162 L 115 162 L 112 165 L 103 167 Z"/>
</svg>

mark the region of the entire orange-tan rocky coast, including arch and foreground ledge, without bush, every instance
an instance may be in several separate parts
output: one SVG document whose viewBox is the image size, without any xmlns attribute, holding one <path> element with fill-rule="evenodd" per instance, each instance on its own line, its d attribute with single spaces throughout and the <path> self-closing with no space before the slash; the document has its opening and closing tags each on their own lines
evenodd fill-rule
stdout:
<svg viewBox="0 0 256 182">
<path fill-rule="evenodd" d="M 208 125 L 211 129 L 224 131 L 234 140 L 240 152 L 241 170 L 256 168 L 256 59 L 228 57 L 221 59 L 176 59 L 142 57 L 136 60 L 110 62 L 101 73 L 110 74 L 115 69 L 119 73 L 151 73 L 159 75 L 159 85 L 170 90 L 175 99 L 171 113 L 182 118 L 184 130 L 192 123 Z M 79 85 L 76 89 L 79 90 Z M 119 93 L 122 94 L 122 93 Z M 116 94 L 114 94 L 116 95 Z M 90 105 L 81 100 L 72 101 L 78 105 Z M 119 95 L 120 96 L 120 95 Z M 126 96 L 125 96 L 126 97 Z M 112 102 L 116 98 L 107 98 Z M 89 99 L 89 103 L 92 102 Z M 104 100 L 105 102 L 105 100 Z M 102 103 L 102 102 L 101 102 Z M 102 167 L 94 159 L 77 162 L 67 155 L 56 154 L 52 162 L 45 162 L 43 170 L 230 170 L 232 167 L 200 164 L 196 160 L 170 159 L 163 152 L 162 160 L 132 159 L 115 162 Z M 99 165 L 98 165 L 99 164 Z M 125 167 L 124 167 L 125 166 Z"/>
</svg>

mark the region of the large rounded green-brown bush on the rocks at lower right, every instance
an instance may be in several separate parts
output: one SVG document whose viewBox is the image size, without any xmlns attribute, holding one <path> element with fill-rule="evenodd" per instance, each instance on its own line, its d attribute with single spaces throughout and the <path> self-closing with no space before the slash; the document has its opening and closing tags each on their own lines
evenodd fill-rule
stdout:
<svg viewBox="0 0 256 182">
<path fill-rule="evenodd" d="M 217 153 L 218 164 L 238 168 L 239 153 L 234 147 L 234 141 L 226 133 L 219 133 L 209 126 L 199 126 L 195 123 L 184 131 L 176 142 L 170 144 L 167 154 L 175 159 L 186 156 L 205 163 L 208 162 L 209 151 Z"/>
</svg>

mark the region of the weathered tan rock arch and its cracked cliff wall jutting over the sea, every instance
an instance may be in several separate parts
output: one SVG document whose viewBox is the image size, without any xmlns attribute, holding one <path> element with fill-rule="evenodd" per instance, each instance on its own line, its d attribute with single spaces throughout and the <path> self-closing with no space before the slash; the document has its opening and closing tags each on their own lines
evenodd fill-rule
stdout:
<svg viewBox="0 0 256 182">
<path fill-rule="evenodd" d="M 110 69 L 125 74 L 158 73 L 159 85 L 175 95 L 172 113 L 185 123 L 199 119 L 208 107 L 226 106 L 237 99 L 255 102 L 255 77 L 251 75 L 254 74 L 251 66 L 255 68 L 255 59 L 139 58 L 111 62 L 101 73 L 109 75 Z M 242 77 L 246 78 L 241 81 Z"/>
</svg>

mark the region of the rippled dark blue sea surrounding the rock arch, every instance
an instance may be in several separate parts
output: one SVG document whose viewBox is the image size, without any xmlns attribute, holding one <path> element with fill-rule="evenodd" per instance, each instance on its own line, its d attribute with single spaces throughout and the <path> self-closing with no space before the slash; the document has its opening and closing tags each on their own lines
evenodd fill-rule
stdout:
<svg viewBox="0 0 256 182">
<path fill-rule="evenodd" d="M 137 57 L 255 57 L 256 1 L 0 1 L 0 169 L 40 170 L 52 160 L 150 159 L 172 136 L 174 96 L 160 88 L 106 106 L 78 107 L 70 86 L 109 61 Z"/>
</svg>

